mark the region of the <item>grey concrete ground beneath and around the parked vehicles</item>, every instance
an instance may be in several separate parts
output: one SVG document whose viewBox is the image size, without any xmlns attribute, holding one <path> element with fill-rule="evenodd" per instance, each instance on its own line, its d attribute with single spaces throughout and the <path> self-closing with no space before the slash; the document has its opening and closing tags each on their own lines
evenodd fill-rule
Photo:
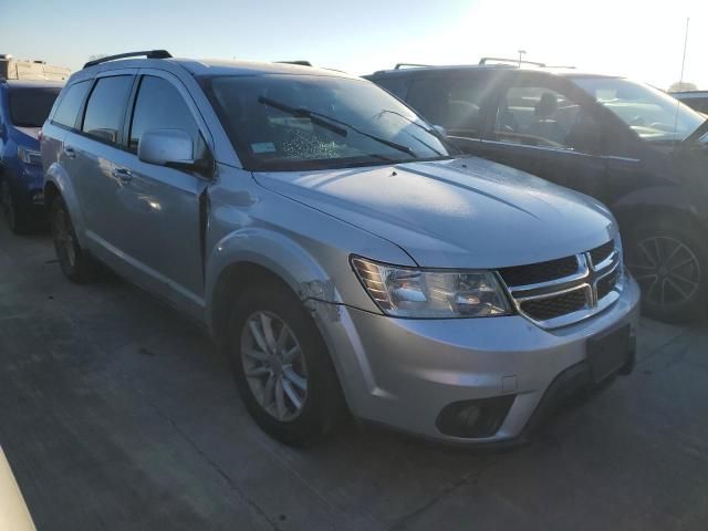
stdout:
<svg viewBox="0 0 708 531">
<path fill-rule="evenodd" d="M 199 329 L 0 227 L 0 445 L 40 531 L 702 530 L 706 345 L 705 324 L 643 322 L 635 373 L 514 450 L 361 425 L 293 450 Z"/>
</svg>

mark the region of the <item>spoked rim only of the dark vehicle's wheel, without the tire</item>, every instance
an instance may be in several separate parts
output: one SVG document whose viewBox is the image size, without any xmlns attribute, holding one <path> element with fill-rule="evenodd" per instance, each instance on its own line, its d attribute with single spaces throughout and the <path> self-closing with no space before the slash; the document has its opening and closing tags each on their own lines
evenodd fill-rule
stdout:
<svg viewBox="0 0 708 531">
<path fill-rule="evenodd" d="M 676 238 L 656 236 L 639 241 L 628 267 L 652 304 L 678 305 L 690 301 L 700 289 L 700 261 Z"/>
</svg>

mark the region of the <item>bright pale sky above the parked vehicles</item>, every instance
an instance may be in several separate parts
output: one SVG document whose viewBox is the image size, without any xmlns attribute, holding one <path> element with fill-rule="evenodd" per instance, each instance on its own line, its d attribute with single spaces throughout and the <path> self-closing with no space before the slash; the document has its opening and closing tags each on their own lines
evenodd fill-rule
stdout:
<svg viewBox="0 0 708 531">
<path fill-rule="evenodd" d="M 310 60 L 366 74 L 398 62 L 517 58 L 708 90 L 708 0 L 0 0 L 0 53 L 77 70 L 95 54 Z"/>
</svg>

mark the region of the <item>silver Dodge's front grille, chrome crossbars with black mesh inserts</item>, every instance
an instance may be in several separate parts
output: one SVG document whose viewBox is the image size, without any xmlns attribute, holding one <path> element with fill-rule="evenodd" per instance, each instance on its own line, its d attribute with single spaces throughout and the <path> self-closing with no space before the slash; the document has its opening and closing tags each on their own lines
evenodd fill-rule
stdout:
<svg viewBox="0 0 708 531">
<path fill-rule="evenodd" d="M 612 305 L 622 291 L 615 242 L 580 254 L 499 270 L 517 310 L 542 327 L 564 326 Z"/>
</svg>

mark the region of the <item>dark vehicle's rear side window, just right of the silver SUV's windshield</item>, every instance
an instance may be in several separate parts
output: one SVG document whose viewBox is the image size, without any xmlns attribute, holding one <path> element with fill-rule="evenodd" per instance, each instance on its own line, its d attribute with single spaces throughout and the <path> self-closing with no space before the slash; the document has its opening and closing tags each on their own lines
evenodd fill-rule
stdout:
<svg viewBox="0 0 708 531">
<path fill-rule="evenodd" d="M 419 77 L 410 86 L 408 103 L 448 134 L 473 138 L 481 135 L 485 86 L 470 77 Z"/>
</svg>

